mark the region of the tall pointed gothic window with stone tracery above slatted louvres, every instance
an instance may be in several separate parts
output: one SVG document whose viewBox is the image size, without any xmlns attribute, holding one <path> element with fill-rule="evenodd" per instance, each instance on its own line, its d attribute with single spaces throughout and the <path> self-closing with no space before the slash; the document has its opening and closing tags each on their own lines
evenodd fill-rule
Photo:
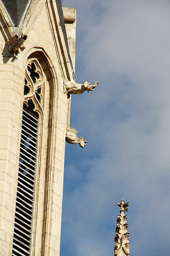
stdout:
<svg viewBox="0 0 170 256">
<path fill-rule="evenodd" d="M 29 59 L 24 84 L 12 256 L 29 256 L 31 250 L 39 120 L 43 117 L 43 87 L 41 65 L 37 59 Z"/>
</svg>

